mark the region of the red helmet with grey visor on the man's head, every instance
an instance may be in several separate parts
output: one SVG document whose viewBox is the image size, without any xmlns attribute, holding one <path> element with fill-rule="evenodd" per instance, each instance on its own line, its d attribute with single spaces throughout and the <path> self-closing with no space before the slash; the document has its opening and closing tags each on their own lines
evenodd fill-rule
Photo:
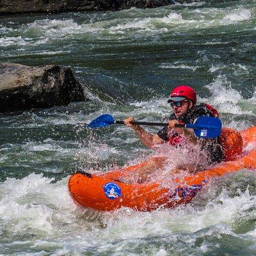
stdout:
<svg viewBox="0 0 256 256">
<path fill-rule="evenodd" d="M 171 99 L 174 101 L 182 100 L 182 98 L 186 98 L 191 100 L 194 104 L 196 104 L 196 93 L 190 86 L 183 84 L 179 85 L 172 90 L 170 95 Z"/>
</svg>

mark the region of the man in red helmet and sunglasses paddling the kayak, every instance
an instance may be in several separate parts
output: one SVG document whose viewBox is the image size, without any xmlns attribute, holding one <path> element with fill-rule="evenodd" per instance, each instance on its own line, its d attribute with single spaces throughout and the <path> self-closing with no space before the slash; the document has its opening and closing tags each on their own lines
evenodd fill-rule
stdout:
<svg viewBox="0 0 256 256">
<path fill-rule="evenodd" d="M 188 140 L 199 145 L 206 152 L 209 164 L 223 161 L 225 156 L 218 138 L 197 138 L 193 129 L 175 127 L 175 124 L 193 124 L 199 116 L 218 117 L 218 111 L 209 104 L 202 103 L 196 105 L 196 93 L 188 85 L 175 87 L 170 94 L 168 103 L 173 108 L 173 114 L 169 118 L 168 126 L 165 126 L 157 134 L 145 131 L 140 125 L 132 125 L 131 123 L 134 122 L 132 116 L 126 118 L 124 123 L 131 127 L 141 142 L 149 148 L 154 148 L 154 146 L 161 143 L 169 143 L 173 147 L 179 147 L 182 141 Z M 148 169 L 154 169 L 156 166 L 163 165 L 164 157 L 154 157 L 149 162 Z"/>
</svg>

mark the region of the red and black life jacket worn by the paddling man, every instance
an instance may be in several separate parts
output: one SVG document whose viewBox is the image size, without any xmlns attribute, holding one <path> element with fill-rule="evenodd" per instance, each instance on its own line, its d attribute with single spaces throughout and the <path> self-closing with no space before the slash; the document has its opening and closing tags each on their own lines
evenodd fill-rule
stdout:
<svg viewBox="0 0 256 256">
<path fill-rule="evenodd" d="M 179 124 L 193 124 L 195 119 L 202 115 L 219 117 L 217 109 L 213 108 L 209 104 L 202 103 L 194 106 L 193 109 L 191 109 L 191 111 L 182 115 L 181 118 L 177 119 L 174 114 L 171 115 L 170 120 L 179 120 Z M 168 143 L 170 143 L 170 145 L 174 147 L 175 145 L 179 144 L 182 141 L 182 138 L 182 134 L 179 134 L 177 131 L 175 131 L 169 135 Z"/>
</svg>

